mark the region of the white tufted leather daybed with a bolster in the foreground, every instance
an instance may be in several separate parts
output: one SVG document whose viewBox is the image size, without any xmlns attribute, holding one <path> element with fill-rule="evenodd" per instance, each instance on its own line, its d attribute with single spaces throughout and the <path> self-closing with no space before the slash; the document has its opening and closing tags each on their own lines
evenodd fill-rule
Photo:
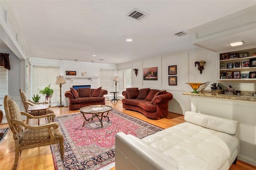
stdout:
<svg viewBox="0 0 256 170">
<path fill-rule="evenodd" d="M 116 170 L 228 170 L 240 145 L 238 121 L 187 111 L 184 123 L 143 139 L 116 134 Z"/>
</svg>

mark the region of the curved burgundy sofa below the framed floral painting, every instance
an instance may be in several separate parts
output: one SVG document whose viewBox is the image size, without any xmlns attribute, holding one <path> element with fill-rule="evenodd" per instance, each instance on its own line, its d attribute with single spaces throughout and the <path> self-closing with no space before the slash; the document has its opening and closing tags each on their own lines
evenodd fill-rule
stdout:
<svg viewBox="0 0 256 170">
<path fill-rule="evenodd" d="M 171 93 L 165 90 L 150 88 L 126 88 L 122 92 L 124 109 L 138 111 L 151 119 L 160 119 L 168 114 L 168 101 L 172 100 Z"/>
</svg>

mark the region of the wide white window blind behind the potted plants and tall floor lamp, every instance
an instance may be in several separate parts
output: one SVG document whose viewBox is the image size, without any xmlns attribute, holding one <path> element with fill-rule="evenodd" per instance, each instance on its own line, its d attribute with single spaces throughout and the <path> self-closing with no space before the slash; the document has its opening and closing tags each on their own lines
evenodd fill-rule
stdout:
<svg viewBox="0 0 256 170">
<path fill-rule="evenodd" d="M 50 67 L 50 66 L 33 66 L 32 71 L 32 95 L 27 96 L 27 98 L 31 98 L 34 94 L 39 94 L 39 90 L 43 90 L 46 86 L 49 86 L 54 90 L 51 98 L 51 104 L 53 102 L 60 101 L 60 85 L 56 84 L 56 77 L 60 75 L 59 67 Z M 41 96 L 40 102 L 45 101 L 45 96 L 39 94 Z"/>
</svg>

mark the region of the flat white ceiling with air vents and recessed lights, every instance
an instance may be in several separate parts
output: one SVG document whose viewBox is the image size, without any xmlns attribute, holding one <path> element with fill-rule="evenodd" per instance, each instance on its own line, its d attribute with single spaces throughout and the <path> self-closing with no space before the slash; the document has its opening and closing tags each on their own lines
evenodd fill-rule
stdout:
<svg viewBox="0 0 256 170">
<path fill-rule="evenodd" d="M 256 4 L 255 0 L 10 2 L 30 57 L 113 64 L 195 48 L 190 34 L 174 34 Z M 128 18 L 134 8 L 148 17 Z M 133 41 L 125 41 L 128 38 Z"/>
</svg>

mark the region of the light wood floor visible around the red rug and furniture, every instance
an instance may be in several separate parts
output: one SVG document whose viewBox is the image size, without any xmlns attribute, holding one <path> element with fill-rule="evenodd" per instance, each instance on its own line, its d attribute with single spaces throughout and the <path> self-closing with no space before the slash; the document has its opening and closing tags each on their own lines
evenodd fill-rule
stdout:
<svg viewBox="0 0 256 170">
<path fill-rule="evenodd" d="M 148 119 L 143 114 L 123 109 L 121 101 L 115 103 L 106 101 L 106 105 L 110 105 L 118 111 L 122 111 L 128 115 L 137 117 L 138 119 L 154 124 L 158 127 L 162 127 L 164 129 L 184 122 L 183 115 L 170 112 L 166 117 L 160 120 Z M 79 112 L 78 110 L 70 111 L 68 110 L 68 107 L 52 107 L 52 110 L 54 110 L 56 116 Z M 44 119 L 40 120 L 40 124 L 44 123 Z M 37 120 L 30 120 L 30 125 L 37 125 Z M 8 124 L 0 125 L 0 128 L 5 127 L 9 127 Z M 12 132 L 9 131 L 2 143 L 0 144 L 0 170 L 11 170 L 14 164 L 15 149 L 14 139 L 12 135 Z M 112 170 L 114 169 L 115 168 L 112 168 Z M 50 146 L 23 150 L 20 155 L 17 170 L 54 170 Z M 233 164 L 229 170 L 256 170 L 256 167 L 238 160 L 237 164 Z"/>
</svg>

